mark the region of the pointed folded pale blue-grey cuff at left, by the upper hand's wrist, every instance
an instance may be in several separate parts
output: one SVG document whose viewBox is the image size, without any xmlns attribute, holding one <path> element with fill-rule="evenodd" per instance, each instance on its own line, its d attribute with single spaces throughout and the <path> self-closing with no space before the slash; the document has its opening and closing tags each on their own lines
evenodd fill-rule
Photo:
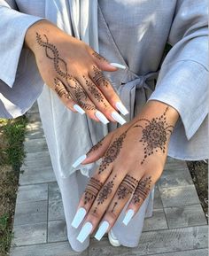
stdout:
<svg viewBox="0 0 209 256">
<path fill-rule="evenodd" d="M 0 80 L 12 88 L 27 29 L 43 18 L 17 12 L 5 6 L 0 6 L 0 17 L 0 29 L 4 31 L 4 36 L 0 37 Z"/>
</svg>

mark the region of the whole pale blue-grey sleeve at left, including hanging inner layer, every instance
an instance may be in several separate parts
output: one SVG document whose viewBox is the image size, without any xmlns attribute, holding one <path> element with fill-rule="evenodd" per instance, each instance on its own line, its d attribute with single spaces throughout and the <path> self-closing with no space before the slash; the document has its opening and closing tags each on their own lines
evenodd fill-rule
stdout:
<svg viewBox="0 0 209 256">
<path fill-rule="evenodd" d="M 23 44 L 27 28 L 43 18 L 18 12 L 12 9 L 14 1 L 7 2 L 0 0 L 0 117 L 13 118 L 26 112 L 42 91 L 35 59 Z"/>
</svg>

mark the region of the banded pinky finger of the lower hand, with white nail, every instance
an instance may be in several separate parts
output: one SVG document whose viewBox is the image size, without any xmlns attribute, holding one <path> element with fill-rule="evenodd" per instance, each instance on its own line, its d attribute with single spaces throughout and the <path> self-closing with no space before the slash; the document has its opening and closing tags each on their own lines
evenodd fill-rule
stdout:
<svg viewBox="0 0 209 256">
<path fill-rule="evenodd" d="M 138 212 L 139 208 L 143 205 L 143 201 L 148 197 L 151 188 L 154 186 L 151 176 L 143 176 L 135 188 L 133 197 L 128 204 L 123 224 L 128 225 L 129 221 L 134 217 L 135 213 Z"/>
</svg>

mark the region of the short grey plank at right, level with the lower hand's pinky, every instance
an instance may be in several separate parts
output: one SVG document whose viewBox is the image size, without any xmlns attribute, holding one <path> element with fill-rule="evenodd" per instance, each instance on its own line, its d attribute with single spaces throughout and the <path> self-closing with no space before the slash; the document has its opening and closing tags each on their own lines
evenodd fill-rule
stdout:
<svg viewBox="0 0 209 256">
<path fill-rule="evenodd" d="M 159 187 L 159 193 L 164 207 L 199 204 L 199 198 L 194 185 L 172 188 Z"/>
</svg>

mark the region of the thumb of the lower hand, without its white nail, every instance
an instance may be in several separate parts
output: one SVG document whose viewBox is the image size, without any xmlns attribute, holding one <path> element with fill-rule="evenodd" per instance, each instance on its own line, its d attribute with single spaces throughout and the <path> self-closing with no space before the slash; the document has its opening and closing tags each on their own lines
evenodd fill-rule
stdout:
<svg viewBox="0 0 209 256">
<path fill-rule="evenodd" d="M 87 153 L 87 158 L 82 162 L 82 165 L 89 164 L 101 159 L 105 151 L 108 149 L 112 141 L 112 134 L 105 136 L 101 141 L 95 144 Z"/>
</svg>

